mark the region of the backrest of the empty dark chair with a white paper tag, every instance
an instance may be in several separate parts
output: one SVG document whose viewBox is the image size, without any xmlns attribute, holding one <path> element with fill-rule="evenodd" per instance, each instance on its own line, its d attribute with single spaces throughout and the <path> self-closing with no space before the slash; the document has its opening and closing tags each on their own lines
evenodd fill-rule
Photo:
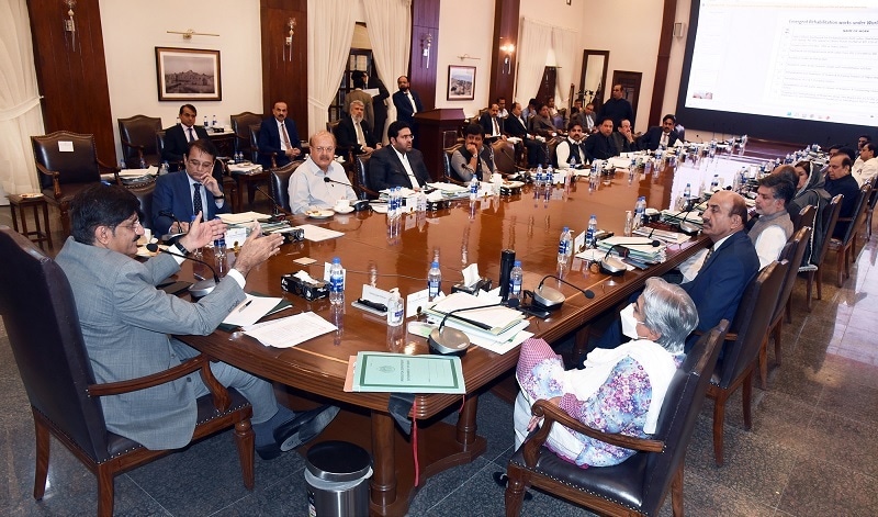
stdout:
<svg viewBox="0 0 878 517">
<path fill-rule="evenodd" d="M 61 151 L 59 143 L 69 142 L 72 153 Z M 98 151 L 94 148 L 94 135 L 82 135 L 69 131 L 56 131 L 48 135 L 32 136 L 31 144 L 34 148 L 34 159 L 48 170 L 59 173 L 58 182 L 88 183 L 101 181 L 101 171 L 98 168 Z M 52 178 L 37 173 L 43 189 L 52 188 Z"/>
</svg>

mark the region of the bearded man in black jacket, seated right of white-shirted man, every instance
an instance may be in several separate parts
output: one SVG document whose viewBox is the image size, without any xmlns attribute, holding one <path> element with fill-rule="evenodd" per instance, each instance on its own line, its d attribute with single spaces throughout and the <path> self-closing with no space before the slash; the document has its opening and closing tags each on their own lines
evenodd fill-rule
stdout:
<svg viewBox="0 0 878 517">
<path fill-rule="evenodd" d="M 403 121 L 392 122 L 387 127 L 387 138 L 391 145 L 372 153 L 369 159 L 370 189 L 375 192 L 391 187 L 420 190 L 430 181 L 430 173 L 424 156 L 412 148 L 412 128 Z"/>
</svg>

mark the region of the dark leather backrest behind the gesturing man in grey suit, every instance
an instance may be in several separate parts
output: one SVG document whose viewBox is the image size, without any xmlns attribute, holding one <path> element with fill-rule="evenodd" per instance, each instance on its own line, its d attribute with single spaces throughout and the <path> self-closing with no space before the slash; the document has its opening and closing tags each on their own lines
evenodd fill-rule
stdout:
<svg viewBox="0 0 878 517">
<path fill-rule="evenodd" d="M 106 424 L 61 268 L 8 226 L 0 226 L 0 315 L 31 406 L 95 461 L 108 457 Z"/>
</svg>

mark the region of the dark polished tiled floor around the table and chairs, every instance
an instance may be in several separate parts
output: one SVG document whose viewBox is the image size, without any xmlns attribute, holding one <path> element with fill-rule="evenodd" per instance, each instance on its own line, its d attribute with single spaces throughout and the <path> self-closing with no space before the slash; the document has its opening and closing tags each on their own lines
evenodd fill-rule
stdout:
<svg viewBox="0 0 878 517">
<path fill-rule="evenodd" d="M 10 224 L 0 209 L 0 224 Z M 56 250 L 60 240 L 56 237 Z M 803 282 L 793 292 L 793 321 L 784 330 L 784 366 L 767 391 L 754 390 L 753 429 L 743 429 L 740 395 L 728 408 L 725 465 L 712 460 L 710 402 L 705 403 L 686 459 L 685 507 L 696 516 L 878 515 L 878 236 L 856 260 L 844 288 L 825 272 L 823 301 L 807 313 Z M 833 257 L 830 257 L 831 259 Z M 1 289 L 1 288 L 0 288 Z M 873 334 L 875 333 L 875 334 Z M 0 515 L 93 515 L 95 479 L 53 440 L 49 485 L 31 495 L 33 424 L 27 398 L 0 327 Z M 503 515 L 503 491 L 491 479 L 511 454 L 511 407 L 481 397 L 479 432 L 487 452 L 430 479 L 413 516 Z M 304 515 L 303 460 L 257 458 L 247 492 L 228 432 L 199 442 L 115 481 L 117 515 Z M 536 493 L 524 515 L 590 515 Z M 662 515 L 671 515 L 669 503 Z"/>
</svg>

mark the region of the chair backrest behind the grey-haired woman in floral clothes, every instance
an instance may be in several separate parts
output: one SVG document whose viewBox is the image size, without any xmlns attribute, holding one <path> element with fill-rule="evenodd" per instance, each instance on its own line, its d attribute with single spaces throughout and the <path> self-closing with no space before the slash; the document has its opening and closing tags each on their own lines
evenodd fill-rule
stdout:
<svg viewBox="0 0 878 517">
<path fill-rule="evenodd" d="M 723 319 L 701 336 L 674 373 L 652 436 L 664 441 L 665 449 L 660 454 L 648 454 L 643 469 L 643 509 L 661 506 L 686 456 L 728 327 L 729 322 Z"/>
</svg>

